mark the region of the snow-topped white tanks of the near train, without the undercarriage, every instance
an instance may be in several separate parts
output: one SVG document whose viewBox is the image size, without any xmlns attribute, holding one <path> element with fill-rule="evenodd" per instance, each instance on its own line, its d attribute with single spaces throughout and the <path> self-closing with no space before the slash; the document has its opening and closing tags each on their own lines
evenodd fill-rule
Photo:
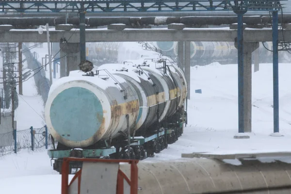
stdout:
<svg viewBox="0 0 291 194">
<path fill-rule="evenodd" d="M 157 58 L 156 52 L 147 51 L 142 61 L 149 57 Z M 176 113 L 187 95 L 182 71 L 168 63 L 163 74 L 161 63 L 135 64 L 140 62 L 101 65 L 95 76 L 73 71 L 54 82 L 45 107 L 54 139 L 69 147 L 87 147 L 127 132 L 127 114 L 135 134 Z"/>
</svg>

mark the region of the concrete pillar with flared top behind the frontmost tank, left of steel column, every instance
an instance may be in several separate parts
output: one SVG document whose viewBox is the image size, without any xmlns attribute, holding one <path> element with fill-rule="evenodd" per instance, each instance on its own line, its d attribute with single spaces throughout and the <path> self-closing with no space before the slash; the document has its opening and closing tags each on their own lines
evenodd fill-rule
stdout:
<svg viewBox="0 0 291 194">
<path fill-rule="evenodd" d="M 60 48 L 66 55 L 66 75 L 70 71 L 79 70 L 77 53 L 80 52 L 80 43 L 60 43 Z"/>
</svg>

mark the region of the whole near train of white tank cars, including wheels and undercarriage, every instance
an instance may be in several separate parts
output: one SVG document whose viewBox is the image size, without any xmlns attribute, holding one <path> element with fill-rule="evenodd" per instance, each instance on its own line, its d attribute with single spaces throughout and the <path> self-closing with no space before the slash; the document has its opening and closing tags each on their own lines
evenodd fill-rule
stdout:
<svg viewBox="0 0 291 194">
<path fill-rule="evenodd" d="M 54 170 L 61 172 L 69 156 L 142 160 L 178 140 L 187 116 L 185 76 L 169 59 L 148 52 L 147 60 L 72 71 L 52 84 L 45 119 L 57 142 L 48 151 Z"/>
</svg>

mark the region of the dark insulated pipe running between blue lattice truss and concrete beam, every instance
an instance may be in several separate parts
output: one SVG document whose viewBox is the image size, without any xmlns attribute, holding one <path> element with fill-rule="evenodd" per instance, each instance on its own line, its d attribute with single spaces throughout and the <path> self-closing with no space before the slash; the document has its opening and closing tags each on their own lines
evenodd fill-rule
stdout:
<svg viewBox="0 0 291 194">
<path fill-rule="evenodd" d="M 279 17 L 279 23 L 281 18 Z M 65 17 L 22 17 L 8 18 L 0 17 L 0 25 L 12 25 L 18 27 L 40 26 L 46 25 L 55 26 L 65 24 Z M 237 23 L 235 16 L 189 16 L 189 17 L 88 17 L 85 19 L 85 24 L 91 27 L 106 26 L 109 24 L 126 24 L 132 27 L 143 25 L 168 25 L 172 23 L 182 23 L 186 25 L 229 25 Z M 244 16 L 243 23 L 246 24 L 270 24 L 272 18 L 268 16 Z M 282 23 L 291 23 L 291 16 L 283 17 Z M 78 17 L 67 18 L 67 24 L 80 25 Z"/>
</svg>

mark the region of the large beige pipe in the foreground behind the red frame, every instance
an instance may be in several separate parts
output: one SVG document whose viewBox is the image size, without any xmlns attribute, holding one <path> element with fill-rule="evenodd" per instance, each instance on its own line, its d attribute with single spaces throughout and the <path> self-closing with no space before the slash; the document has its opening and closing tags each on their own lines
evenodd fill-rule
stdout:
<svg viewBox="0 0 291 194">
<path fill-rule="evenodd" d="M 290 194 L 291 164 L 244 160 L 232 165 L 219 160 L 186 159 L 176 162 L 138 162 L 139 194 L 201 194 L 289 186 L 289 189 L 252 194 Z M 120 169 L 130 177 L 128 164 Z M 248 193 L 248 192 L 244 192 Z"/>
</svg>

